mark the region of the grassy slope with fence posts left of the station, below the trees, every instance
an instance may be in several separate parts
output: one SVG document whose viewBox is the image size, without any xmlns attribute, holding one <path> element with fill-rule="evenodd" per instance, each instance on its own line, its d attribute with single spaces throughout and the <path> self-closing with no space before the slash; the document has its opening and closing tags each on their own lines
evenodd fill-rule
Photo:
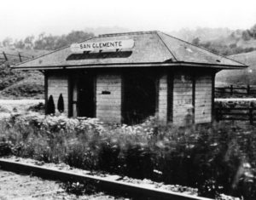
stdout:
<svg viewBox="0 0 256 200">
<path fill-rule="evenodd" d="M 0 99 L 43 98 L 44 75 L 41 72 L 12 70 L 10 66 L 18 64 L 20 58 L 25 61 L 48 51 L 0 48 L 0 52 Z"/>
</svg>

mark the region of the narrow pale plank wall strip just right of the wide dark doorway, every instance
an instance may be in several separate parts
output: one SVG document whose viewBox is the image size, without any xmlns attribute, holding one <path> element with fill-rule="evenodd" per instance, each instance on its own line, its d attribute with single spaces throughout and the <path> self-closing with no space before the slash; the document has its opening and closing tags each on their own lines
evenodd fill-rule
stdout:
<svg viewBox="0 0 256 200">
<path fill-rule="evenodd" d="M 167 122 L 167 100 L 168 100 L 167 75 L 160 76 L 159 80 L 159 99 L 158 99 L 158 118 L 160 123 Z"/>
</svg>

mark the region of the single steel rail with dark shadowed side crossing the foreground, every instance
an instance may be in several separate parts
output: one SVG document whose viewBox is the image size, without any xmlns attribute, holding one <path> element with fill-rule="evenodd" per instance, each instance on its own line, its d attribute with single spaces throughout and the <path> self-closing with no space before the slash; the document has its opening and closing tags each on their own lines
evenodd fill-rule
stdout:
<svg viewBox="0 0 256 200">
<path fill-rule="evenodd" d="M 7 171 L 33 174 L 48 180 L 79 181 L 85 183 L 88 181 L 100 187 L 102 191 L 127 194 L 129 197 L 170 200 L 211 200 L 206 197 L 196 197 L 174 191 L 166 191 L 162 189 L 148 188 L 148 186 L 125 183 L 119 180 L 110 180 L 108 177 L 67 172 L 61 169 L 47 169 L 44 166 L 9 161 L 8 159 L 4 158 L 0 158 L 0 168 Z"/>
</svg>

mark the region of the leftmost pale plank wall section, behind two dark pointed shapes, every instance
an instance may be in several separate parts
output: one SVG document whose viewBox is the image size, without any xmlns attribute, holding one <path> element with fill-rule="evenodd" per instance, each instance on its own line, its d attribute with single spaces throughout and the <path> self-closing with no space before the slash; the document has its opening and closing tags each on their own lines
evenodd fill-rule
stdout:
<svg viewBox="0 0 256 200">
<path fill-rule="evenodd" d="M 55 112 L 57 112 L 57 105 L 60 94 L 63 96 L 64 100 L 64 114 L 68 113 L 68 77 L 66 74 L 61 72 L 49 71 L 47 74 L 47 95 L 52 95 L 55 103 Z"/>
</svg>

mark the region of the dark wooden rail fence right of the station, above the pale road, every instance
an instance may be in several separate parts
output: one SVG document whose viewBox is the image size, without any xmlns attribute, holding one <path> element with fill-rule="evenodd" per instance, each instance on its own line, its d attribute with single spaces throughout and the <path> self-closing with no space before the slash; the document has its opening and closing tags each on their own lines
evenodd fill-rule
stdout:
<svg viewBox="0 0 256 200">
<path fill-rule="evenodd" d="M 255 95 L 256 87 L 251 85 L 234 87 L 230 85 L 229 87 L 215 87 L 215 94 L 243 94 L 243 95 Z"/>
</svg>

